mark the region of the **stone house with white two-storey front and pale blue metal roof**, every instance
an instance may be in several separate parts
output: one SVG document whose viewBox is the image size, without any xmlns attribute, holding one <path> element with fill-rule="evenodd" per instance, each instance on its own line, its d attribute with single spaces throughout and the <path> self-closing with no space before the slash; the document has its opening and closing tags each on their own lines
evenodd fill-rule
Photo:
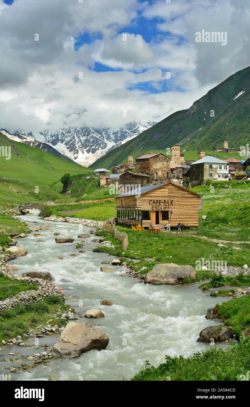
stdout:
<svg viewBox="0 0 250 407">
<path fill-rule="evenodd" d="M 228 168 L 228 162 L 207 155 L 190 164 L 190 184 L 191 186 L 201 185 L 206 179 L 228 181 Z"/>
</svg>

